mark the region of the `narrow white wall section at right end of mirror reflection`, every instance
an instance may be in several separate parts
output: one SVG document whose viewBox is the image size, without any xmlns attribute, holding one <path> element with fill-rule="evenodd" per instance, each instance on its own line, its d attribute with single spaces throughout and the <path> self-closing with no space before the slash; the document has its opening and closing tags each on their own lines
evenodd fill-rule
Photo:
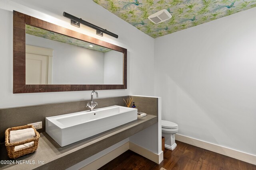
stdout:
<svg viewBox="0 0 256 170">
<path fill-rule="evenodd" d="M 114 50 L 104 53 L 104 84 L 123 84 L 122 56 Z"/>
</svg>

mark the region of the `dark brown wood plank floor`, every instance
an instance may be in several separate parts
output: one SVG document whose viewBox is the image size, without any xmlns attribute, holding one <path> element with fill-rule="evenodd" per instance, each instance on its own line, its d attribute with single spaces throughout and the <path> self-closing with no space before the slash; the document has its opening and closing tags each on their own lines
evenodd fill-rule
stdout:
<svg viewBox="0 0 256 170">
<path fill-rule="evenodd" d="M 99 170 L 256 170 L 256 166 L 176 141 L 176 149 L 164 151 L 164 160 L 158 165 L 128 150 L 102 166 Z"/>
</svg>

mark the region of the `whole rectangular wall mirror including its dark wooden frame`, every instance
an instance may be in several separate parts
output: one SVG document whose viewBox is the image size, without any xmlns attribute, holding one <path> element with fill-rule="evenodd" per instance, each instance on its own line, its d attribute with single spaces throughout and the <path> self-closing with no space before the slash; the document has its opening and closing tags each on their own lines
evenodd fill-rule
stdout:
<svg viewBox="0 0 256 170">
<path fill-rule="evenodd" d="M 127 88 L 126 49 L 16 11 L 13 61 L 13 93 Z"/>
</svg>

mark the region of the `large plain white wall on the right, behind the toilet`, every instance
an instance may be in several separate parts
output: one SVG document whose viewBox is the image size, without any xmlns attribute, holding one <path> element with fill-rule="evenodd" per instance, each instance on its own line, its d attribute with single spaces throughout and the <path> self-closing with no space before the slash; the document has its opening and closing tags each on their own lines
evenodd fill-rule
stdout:
<svg viewBox="0 0 256 170">
<path fill-rule="evenodd" d="M 256 8 L 155 39 L 162 118 L 185 135 L 256 155 Z"/>
</svg>

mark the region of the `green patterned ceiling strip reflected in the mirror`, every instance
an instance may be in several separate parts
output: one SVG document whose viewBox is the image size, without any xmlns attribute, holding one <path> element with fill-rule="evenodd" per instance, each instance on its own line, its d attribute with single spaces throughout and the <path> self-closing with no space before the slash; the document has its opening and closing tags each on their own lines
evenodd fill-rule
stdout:
<svg viewBox="0 0 256 170">
<path fill-rule="evenodd" d="M 66 35 L 54 33 L 52 31 L 48 31 L 48 30 L 38 28 L 38 27 L 34 27 L 34 26 L 31 26 L 31 25 L 27 25 L 27 24 L 26 24 L 26 33 L 30 34 L 30 35 L 37 36 L 37 37 L 51 39 L 51 40 L 58 41 L 58 42 L 61 42 L 61 43 L 75 45 L 75 46 L 78 46 L 78 47 L 83 47 L 83 48 L 94 50 L 94 51 L 100 51 L 102 53 L 112 51 L 112 49 L 101 47 L 99 45 L 88 43 L 86 41 L 82 41 L 82 40 L 79 40 L 79 39 L 68 37 Z M 90 47 L 90 45 L 93 45 L 93 47 Z"/>
</svg>

